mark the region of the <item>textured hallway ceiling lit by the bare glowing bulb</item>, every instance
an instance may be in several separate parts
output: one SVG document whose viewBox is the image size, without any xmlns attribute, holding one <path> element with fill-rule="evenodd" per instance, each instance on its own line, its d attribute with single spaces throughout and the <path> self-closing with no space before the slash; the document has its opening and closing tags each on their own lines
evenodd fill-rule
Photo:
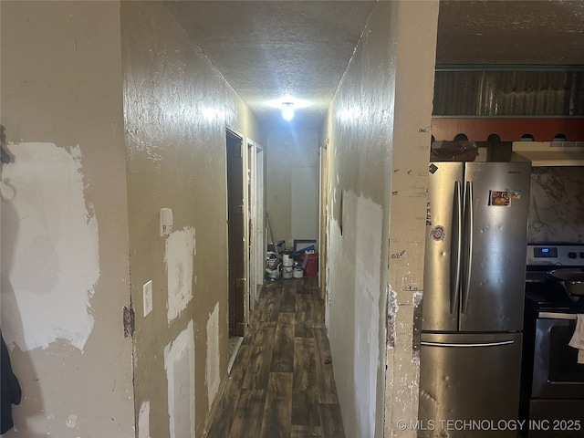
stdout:
<svg viewBox="0 0 584 438">
<path fill-rule="evenodd" d="M 367 23 L 368 1 L 185 1 L 167 6 L 263 124 L 287 93 L 311 105 L 295 122 L 318 127 Z"/>
</svg>

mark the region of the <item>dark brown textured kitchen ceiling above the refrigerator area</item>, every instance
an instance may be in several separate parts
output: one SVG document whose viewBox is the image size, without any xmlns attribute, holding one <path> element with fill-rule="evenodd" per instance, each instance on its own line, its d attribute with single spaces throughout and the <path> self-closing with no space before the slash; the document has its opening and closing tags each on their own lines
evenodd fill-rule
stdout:
<svg viewBox="0 0 584 438">
<path fill-rule="evenodd" d="M 443 0 L 436 61 L 584 66 L 584 1 Z"/>
</svg>

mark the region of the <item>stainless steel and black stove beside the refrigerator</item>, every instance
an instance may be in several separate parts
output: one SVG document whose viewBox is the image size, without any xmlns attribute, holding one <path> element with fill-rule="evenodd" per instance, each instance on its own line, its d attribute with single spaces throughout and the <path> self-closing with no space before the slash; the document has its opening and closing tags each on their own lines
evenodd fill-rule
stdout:
<svg viewBox="0 0 584 438">
<path fill-rule="evenodd" d="M 584 364 L 568 343 L 577 315 L 584 313 L 584 297 L 569 297 L 549 280 L 547 271 L 584 265 L 584 245 L 528 245 L 527 253 L 523 433 L 529 438 L 582 438 Z"/>
</svg>

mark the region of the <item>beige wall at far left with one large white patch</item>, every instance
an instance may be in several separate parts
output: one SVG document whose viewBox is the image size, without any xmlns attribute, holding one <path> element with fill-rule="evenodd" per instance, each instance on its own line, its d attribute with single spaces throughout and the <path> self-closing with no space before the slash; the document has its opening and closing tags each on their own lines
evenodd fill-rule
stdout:
<svg viewBox="0 0 584 438">
<path fill-rule="evenodd" d="M 23 391 L 3 436 L 133 437 L 120 5 L 7 1 L 0 16 L 0 300 Z"/>
</svg>

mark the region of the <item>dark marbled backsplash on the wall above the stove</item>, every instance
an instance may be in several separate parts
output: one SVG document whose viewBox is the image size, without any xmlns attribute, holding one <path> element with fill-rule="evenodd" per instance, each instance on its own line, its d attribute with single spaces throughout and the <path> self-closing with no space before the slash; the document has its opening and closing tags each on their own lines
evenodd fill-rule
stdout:
<svg viewBox="0 0 584 438">
<path fill-rule="evenodd" d="M 534 167 L 527 241 L 584 243 L 584 167 Z"/>
</svg>

